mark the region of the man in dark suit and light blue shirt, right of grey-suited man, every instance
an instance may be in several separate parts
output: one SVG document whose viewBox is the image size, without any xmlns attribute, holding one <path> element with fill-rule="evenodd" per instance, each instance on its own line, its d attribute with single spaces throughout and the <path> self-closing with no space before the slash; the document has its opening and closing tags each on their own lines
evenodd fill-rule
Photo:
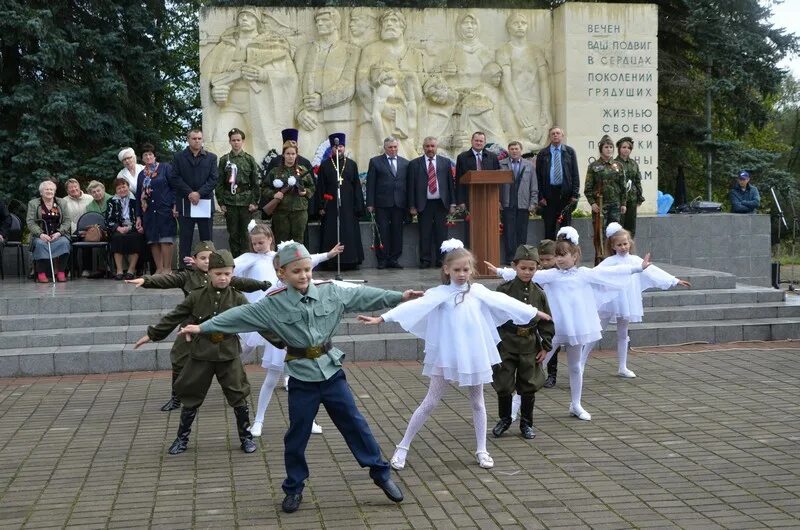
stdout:
<svg viewBox="0 0 800 530">
<path fill-rule="evenodd" d="M 560 127 L 551 127 L 550 145 L 536 155 L 536 178 L 539 183 L 539 206 L 542 208 L 545 239 L 556 238 L 556 222 L 564 212 L 561 226 L 572 224 L 572 209 L 580 195 L 581 176 L 575 150 L 563 144 Z"/>
</svg>

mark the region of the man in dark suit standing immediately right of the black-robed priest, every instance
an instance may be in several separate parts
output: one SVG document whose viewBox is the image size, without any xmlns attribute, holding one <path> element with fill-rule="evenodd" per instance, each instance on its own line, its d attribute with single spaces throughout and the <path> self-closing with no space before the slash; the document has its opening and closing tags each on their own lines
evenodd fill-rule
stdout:
<svg viewBox="0 0 800 530">
<path fill-rule="evenodd" d="M 369 161 L 367 169 L 367 210 L 375 215 L 380 241 L 375 241 L 379 269 L 402 269 L 403 218 L 408 204 L 408 160 L 397 156 L 397 138 L 383 141 L 384 154 Z M 379 243 L 383 244 L 380 248 Z"/>
</svg>

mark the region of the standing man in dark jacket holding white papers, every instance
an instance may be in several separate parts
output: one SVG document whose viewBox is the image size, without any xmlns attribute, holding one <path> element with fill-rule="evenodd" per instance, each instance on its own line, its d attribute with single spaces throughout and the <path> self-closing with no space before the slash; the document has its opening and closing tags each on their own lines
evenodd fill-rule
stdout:
<svg viewBox="0 0 800 530">
<path fill-rule="evenodd" d="M 217 155 L 203 148 L 203 131 L 192 129 L 187 139 L 189 146 L 175 154 L 169 175 L 178 209 L 181 266 L 192 249 L 195 225 L 200 231 L 200 240 L 211 240 L 213 193 L 219 178 Z"/>
</svg>

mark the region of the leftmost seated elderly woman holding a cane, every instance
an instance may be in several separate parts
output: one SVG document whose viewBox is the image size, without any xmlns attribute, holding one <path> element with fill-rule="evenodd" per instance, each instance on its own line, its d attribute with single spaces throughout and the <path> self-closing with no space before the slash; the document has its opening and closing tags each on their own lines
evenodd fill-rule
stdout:
<svg viewBox="0 0 800 530">
<path fill-rule="evenodd" d="M 70 218 L 64 200 L 56 198 L 54 182 L 45 180 L 39 184 L 39 195 L 28 202 L 25 216 L 31 234 L 36 281 L 47 283 L 47 273 L 55 271 L 55 279 L 65 282 L 67 275 L 64 271 L 69 265 Z"/>
</svg>

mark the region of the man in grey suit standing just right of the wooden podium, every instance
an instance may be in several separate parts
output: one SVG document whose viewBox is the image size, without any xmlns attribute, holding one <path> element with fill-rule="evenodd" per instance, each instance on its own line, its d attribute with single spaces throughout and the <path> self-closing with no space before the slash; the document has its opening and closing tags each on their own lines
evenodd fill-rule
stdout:
<svg viewBox="0 0 800 530">
<path fill-rule="evenodd" d="M 514 174 L 514 182 L 500 186 L 505 263 L 511 263 L 517 247 L 527 243 L 528 214 L 536 208 L 539 196 L 536 172 L 533 163 L 522 158 L 522 144 L 508 144 L 508 154 L 500 161 L 500 169 Z"/>
</svg>

